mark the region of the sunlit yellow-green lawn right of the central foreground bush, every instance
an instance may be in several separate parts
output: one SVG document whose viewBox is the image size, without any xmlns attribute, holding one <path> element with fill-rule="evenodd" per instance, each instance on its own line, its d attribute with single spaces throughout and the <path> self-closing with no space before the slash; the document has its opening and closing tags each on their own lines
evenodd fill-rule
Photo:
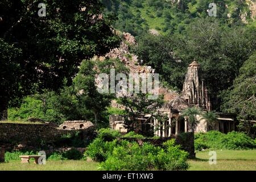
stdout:
<svg viewBox="0 0 256 182">
<path fill-rule="evenodd" d="M 210 165 L 209 151 L 196 154 L 196 159 L 189 160 L 192 171 L 256 171 L 256 150 L 216 150 L 217 164 Z"/>
</svg>

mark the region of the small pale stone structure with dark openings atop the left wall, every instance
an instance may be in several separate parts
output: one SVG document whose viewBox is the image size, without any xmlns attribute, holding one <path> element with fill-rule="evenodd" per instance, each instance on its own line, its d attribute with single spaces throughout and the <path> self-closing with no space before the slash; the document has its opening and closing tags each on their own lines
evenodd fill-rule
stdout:
<svg viewBox="0 0 256 182">
<path fill-rule="evenodd" d="M 93 126 L 89 121 L 65 121 L 59 126 L 59 130 L 83 130 Z"/>
</svg>

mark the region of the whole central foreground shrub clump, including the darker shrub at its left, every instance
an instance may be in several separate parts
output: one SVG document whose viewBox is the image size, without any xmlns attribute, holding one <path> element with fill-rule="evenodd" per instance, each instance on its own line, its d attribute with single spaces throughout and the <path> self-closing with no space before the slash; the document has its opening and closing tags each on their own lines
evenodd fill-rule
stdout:
<svg viewBox="0 0 256 182">
<path fill-rule="evenodd" d="M 188 153 L 175 146 L 175 140 L 168 140 L 163 148 L 149 143 L 113 140 L 105 142 L 98 137 L 88 146 L 85 155 L 101 162 L 102 170 L 186 170 Z"/>
</svg>

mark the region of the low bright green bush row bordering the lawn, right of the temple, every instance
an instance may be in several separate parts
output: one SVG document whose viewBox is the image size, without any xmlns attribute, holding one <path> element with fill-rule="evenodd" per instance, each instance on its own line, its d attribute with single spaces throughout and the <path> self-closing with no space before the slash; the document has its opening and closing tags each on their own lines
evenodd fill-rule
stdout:
<svg viewBox="0 0 256 182">
<path fill-rule="evenodd" d="M 195 150 L 206 148 L 223 150 L 247 150 L 256 148 L 253 139 L 244 133 L 232 131 L 228 134 L 219 131 L 195 134 Z"/>
</svg>

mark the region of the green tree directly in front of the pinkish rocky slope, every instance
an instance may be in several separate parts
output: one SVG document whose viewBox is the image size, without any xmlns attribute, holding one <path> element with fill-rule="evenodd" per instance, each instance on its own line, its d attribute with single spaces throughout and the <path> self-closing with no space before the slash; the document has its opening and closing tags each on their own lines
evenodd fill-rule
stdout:
<svg viewBox="0 0 256 182">
<path fill-rule="evenodd" d="M 110 75 L 110 69 L 114 68 L 117 73 L 127 73 L 127 68 L 119 59 L 106 59 L 104 61 L 82 61 L 80 71 L 74 79 L 76 98 L 79 110 L 90 111 L 94 115 L 94 123 L 98 124 L 99 118 L 110 106 L 115 98 L 114 93 L 99 93 L 97 90 L 96 76 L 100 73 Z"/>
</svg>

